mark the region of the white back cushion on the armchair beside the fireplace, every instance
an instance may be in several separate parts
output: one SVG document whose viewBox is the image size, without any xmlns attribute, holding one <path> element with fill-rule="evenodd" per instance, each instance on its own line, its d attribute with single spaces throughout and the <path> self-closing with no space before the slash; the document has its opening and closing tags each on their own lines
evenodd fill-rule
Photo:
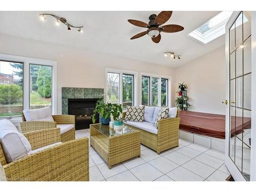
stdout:
<svg viewBox="0 0 256 192">
<path fill-rule="evenodd" d="M 54 121 L 52 116 L 52 109 L 50 106 L 46 106 L 41 109 L 24 110 L 23 111 L 26 121 Z"/>
</svg>

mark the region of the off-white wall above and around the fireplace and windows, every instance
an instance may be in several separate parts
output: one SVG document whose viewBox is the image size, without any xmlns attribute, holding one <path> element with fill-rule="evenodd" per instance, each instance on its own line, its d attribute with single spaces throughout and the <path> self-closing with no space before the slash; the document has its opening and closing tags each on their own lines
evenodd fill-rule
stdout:
<svg viewBox="0 0 256 192">
<path fill-rule="evenodd" d="M 58 114 L 61 114 L 62 87 L 105 88 L 105 68 L 136 71 L 138 75 L 151 73 L 172 77 L 172 81 L 174 79 L 174 69 L 169 67 L 4 34 L 0 34 L 0 53 L 57 61 Z M 174 97 L 174 83 L 172 90 Z M 141 93 L 140 87 L 138 93 Z M 141 94 L 138 94 L 140 100 Z M 174 104 L 174 99 L 172 101 Z"/>
</svg>

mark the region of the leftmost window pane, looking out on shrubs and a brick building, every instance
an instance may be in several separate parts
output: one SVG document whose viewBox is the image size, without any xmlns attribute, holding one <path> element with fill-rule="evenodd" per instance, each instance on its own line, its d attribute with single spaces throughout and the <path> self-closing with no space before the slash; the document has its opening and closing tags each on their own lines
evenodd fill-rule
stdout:
<svg viewBox="0 0 256 192">
<path fill-rule="evenodd" d="M 0 60 L 0 118 L 23 110 L 23 63 Z"/>
</svg>

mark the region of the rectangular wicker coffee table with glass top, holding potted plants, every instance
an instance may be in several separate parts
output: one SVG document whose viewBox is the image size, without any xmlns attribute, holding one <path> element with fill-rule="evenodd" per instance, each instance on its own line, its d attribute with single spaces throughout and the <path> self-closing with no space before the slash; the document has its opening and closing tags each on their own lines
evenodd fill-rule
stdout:
<svg viewBox="0 0 256 192">
<path fill-rule="evenodd" d="M 101 123 L 90 124 L 90 144 L 109 165 L 140 157 L 140 132 L 124 126 L 120 132 Z"/>
</svg>

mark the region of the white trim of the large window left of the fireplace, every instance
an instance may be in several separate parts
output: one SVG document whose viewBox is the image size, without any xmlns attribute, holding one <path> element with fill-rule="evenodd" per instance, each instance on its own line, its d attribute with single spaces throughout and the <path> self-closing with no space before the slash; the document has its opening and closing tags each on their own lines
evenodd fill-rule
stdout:
<svg viewBox="0 0 256 192">
<path fill-rule="evenodd" d="M 7 55 L 0 53 L 0 60 L 9 60 L 13 62 L 23 62 L 23 109 L 29 109 L 29 65 L 38 64 L 52 66 L 52 114 L 57 113 L 57 61 L 37 59 L 31 57 L 22 57 L 16 55 Z M 20 117 L 13 117 L 12 122 L 20 122 Z"/>
</svg>

